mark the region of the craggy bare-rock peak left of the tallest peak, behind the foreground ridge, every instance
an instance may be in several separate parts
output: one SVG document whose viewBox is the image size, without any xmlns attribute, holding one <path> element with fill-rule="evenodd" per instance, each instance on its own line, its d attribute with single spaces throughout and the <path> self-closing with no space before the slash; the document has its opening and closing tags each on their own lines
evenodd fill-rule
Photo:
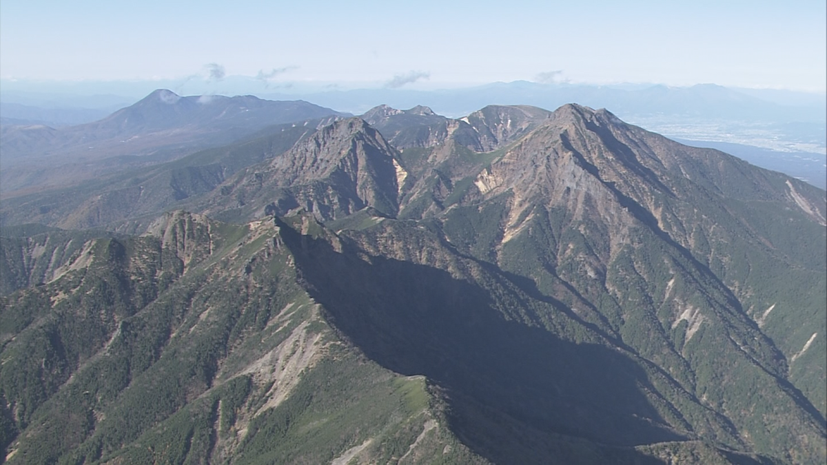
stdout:
<svg viewBox="0 0 827 465">
<path fill-rule="evenodd" d="M 364 120 L 340 120 L 272 161 L 237 175 L 224 189 L 224 198 L 216 198 L 219 206 L 208 211 L 235 202 L 232 206 L 267 214 L 301 207 L 323 220 L 365 207 L 395 215 L 397 157 L 398 152 Z"/>
</svg>

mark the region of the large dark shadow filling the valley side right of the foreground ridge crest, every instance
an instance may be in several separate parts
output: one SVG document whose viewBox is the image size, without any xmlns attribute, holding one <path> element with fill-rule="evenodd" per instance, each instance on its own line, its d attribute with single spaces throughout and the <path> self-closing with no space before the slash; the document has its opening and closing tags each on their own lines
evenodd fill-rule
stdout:
<svg viewBox="0 0 827 465">
<path fill-rule="evenodd" d="M 300 280 L 342 336 L 383 367 L 427 376 L 447 393 L 452 429 L 495 463 L 574 458 L 572 448 L 594 443 L 625 455 L 633 450 L 624 446 L 686 439 L 643 394 L 641 367 L 505 319 L 496 309 L 502 285 L 382 256 L 368 262 L 281 230 Z"/>
</svg>

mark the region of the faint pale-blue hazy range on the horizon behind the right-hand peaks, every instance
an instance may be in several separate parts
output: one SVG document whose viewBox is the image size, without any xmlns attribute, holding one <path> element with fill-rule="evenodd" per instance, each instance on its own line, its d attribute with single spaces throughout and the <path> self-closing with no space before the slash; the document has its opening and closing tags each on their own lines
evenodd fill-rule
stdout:
<svg viewBox="0 0 827 465">
<path fill-rule="evenodd" d="M 557 108 L 569 102 L 578 102 L 593 108 L 613 108 L 621 117 L 661 115 L 753 122 L 825 121 L 827 102 L 823 97 L 810 95 L 809 98 L 785 100 L 765 99 L 760 98 L 760 95 L 757 91 L 742 92 L 740 89 L 715 84 L 697 84 L 691 87 L 642 85 L 621 89 L 609 85 L 514 81 L 463 89 L 356 89 L 302 93 L 299 97 L 353 113 L 364 112 L 379 104 L 395 108 L 427 104 L 437 113 L 461 116 L 492 103 Z M 285 97 L 286 94 L 270 94 L 270 98 Z"/>
</svg>

